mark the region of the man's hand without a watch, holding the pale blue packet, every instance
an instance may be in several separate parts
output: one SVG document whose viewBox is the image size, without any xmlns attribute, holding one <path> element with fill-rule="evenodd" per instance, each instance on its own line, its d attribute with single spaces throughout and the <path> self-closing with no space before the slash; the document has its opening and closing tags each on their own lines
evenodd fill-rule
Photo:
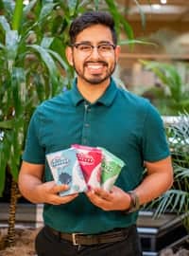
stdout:
<svg viewBox="0 0 189 256">
<path fill-rule="evenodd" d="M 54 181 L 45 182 L 39 184 L 36 190 L 41 197 L 41 201 L 51 205 L 66 204 L 74 200 L 78 193 L 60 196 L 60 192 L 65 192 L 69 190 L 68 185 L 56 185 Z"/>
</svg>

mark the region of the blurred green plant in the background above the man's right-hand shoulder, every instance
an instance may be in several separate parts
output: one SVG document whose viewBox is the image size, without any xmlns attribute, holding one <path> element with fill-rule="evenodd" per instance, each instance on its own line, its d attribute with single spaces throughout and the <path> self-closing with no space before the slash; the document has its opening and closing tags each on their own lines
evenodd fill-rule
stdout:
<svg viewBox="0 0 189 256">
<path fill-rule="evenodd" d="M 146 70 L 153 72 L 160 80 L 159 86 L 153 86 L 144 95 L 153 95 L 153 103 L 162 115 L 179 115 L 189 110 L 189 86 L 183 81 L 179 68 L 174 64 L 155 61 L 140 61 Z M 182 64 L 186 68 L 186 64 Z"/>
</svg>

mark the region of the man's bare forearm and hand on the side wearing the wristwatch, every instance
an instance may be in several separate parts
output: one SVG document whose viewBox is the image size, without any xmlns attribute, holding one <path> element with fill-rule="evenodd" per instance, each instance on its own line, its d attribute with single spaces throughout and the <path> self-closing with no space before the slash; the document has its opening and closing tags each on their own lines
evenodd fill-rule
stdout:
<svg viewBox="0 0 189 256">
<path fill-rule="evenodd" d="M 173 184 L 173 168 L 171 157 L 156 162 L 146 162 L 146 177 L 133 191 L 144 205 L 166 192 Z M 128 192 L 113 187 L 112 192 L 94 189 L 87 192 L 91 202 L 103 210 L 128 210 L 130 196 Z"/>
</svg>

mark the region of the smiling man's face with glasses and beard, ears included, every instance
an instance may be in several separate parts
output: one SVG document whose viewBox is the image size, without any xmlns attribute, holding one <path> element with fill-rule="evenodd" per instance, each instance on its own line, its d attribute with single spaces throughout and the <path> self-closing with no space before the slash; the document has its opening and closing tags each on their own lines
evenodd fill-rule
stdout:
<svg viewBox="0 0 189 256">
<path fill-rule="evenodd" d="M 110 28 L 94 25 L 77 35 L 75 45 L 70 48 L 68 61 L 76 69 L 78 82 L 99 84 L 110 80 L 118 52 L 119 47 L 113 47 Z"/>
</svg>

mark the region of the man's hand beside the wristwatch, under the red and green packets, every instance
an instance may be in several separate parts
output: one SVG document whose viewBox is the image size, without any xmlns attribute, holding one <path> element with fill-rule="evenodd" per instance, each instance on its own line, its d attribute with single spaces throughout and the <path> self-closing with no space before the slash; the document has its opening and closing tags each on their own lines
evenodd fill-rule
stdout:
<svg viewBox="0 0 189 256">
<path fill-rule="evenodd" d="M 127 192 L 113 186 L 111 192 L 100 188 L 94 188 L 86 192 L 90 201 L 102 210 L 127 210 L 130 205 L 130 197 Z"/>
</svg>

